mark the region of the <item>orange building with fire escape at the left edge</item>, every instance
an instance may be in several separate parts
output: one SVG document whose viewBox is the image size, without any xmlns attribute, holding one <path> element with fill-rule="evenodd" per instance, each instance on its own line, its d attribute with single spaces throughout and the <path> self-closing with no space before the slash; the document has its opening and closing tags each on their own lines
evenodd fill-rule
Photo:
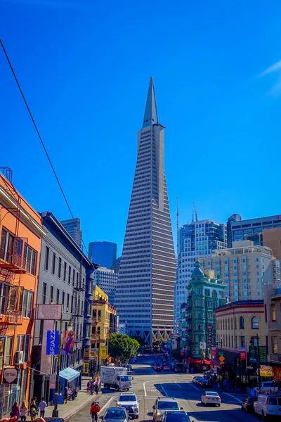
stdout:
<svg viewBox="0 0 281 422">
<path fill-rule="evenodd" d="M 11 170 L 0 171 L 1 417 L 11 411 L 15 400 L 30 401 L 34 304 L 44 229 L 40 215 L 15 190 Z"/>
</svg>

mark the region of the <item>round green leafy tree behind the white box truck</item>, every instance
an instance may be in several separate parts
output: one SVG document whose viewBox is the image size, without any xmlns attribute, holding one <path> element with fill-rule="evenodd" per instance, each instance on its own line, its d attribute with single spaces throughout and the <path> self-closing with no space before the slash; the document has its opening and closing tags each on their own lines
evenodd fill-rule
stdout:
<svg viewBox="0 0 281 422">
<path fill-rule="evenodd" d="M 108 344 L 108 352 L 117 362 L 126 363 L 131 357 L 136 356 L 140 343 L 126 334 L 112 334 Z"/>
</svg>

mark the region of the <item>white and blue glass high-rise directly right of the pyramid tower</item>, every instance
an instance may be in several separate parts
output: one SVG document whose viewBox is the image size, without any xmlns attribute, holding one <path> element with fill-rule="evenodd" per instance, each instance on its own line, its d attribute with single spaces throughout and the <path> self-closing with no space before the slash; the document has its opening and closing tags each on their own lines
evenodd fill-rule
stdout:
<svg viewBox="0 0 281 422">
<path fill-rule="evenodd" d="M 211 219 L 185 224 L 178 230 L 178 267 L 174 292 L 174 326 L 178 332 L 181 305 L 188 296 L 188 283 L 195 261 L 227 245 L 226 224 Z"/>
</svg>

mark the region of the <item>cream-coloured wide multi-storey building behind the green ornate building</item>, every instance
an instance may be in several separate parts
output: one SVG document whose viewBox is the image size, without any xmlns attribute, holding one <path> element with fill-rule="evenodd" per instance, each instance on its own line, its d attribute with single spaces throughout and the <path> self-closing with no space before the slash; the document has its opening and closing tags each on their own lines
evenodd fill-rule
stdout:
<svg viewBox="0 0 281 422">
<path fill-rule="evenodd" d="M 252 241 L 233 242 L 233 248 L 215 250 L 204 258 L 204 270 L 213 269 L 226 284 L 230 302 L 263 300 L 263 286 L 280 279 L 280 262 L 272 250 Z"/>
</svg>

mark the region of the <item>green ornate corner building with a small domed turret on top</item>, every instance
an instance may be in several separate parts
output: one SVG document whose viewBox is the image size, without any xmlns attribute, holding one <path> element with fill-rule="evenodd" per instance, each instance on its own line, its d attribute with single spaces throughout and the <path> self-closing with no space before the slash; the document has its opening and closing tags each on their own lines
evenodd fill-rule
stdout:
<svg viewBox="0 0 281 422">
<path fill-rule="evenodd" d="M 210 278 L 209 278 L 210 277 Z M 216 345 L 216 307 L 226 304 L 223 281 L 214 278 L 214 271 L 195 262 L 188 285 L 188 302 L 181 305 L 181 352 L 195 359 L 211 358 L 211 347 Z"/>
</svg>

